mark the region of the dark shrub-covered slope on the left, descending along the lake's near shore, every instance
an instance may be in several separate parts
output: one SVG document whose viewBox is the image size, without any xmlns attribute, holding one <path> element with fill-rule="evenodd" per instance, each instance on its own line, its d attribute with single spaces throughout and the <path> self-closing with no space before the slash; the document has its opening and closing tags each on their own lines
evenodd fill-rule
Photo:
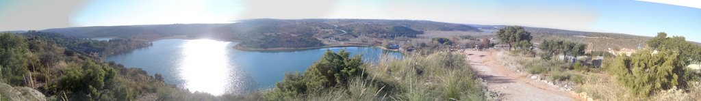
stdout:
<svg viewBox="0 0 701 101">
<path fill-rule="evenodd" d="M 23 34 L 20 34 L 23 35 Z M 165 84 L 139 68 L 125 68 L 114 62 L 100 61 L 94 56 L 58 45 L 61 39 L 33 38 L 13 33 L 0 33 L 0 82 L 10 84 L 23 93 L 36 89 L 48 100 L 196 100 L 214 98 L 209 94 L 189 91 Z M 93 47 L 88 47 L 93 48 Z M 22 87 L 26 86 L 26 87 Z M 13 90 L 0 92 L 4 100 L 22 100 Z M 16 98 L 15 98 L 16 97 Z M 41 97 L 43 98 L 43 97 Z M 147 99 L 149 100 L 149 99 Z M 203 100 L 203 99 L 199 99 Z"/>
</svg>

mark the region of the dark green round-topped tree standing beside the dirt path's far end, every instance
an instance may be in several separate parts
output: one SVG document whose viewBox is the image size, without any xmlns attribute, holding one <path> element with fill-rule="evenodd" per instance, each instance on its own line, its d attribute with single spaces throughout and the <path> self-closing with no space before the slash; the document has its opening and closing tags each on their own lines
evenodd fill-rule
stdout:
<svg viewBox="0 0 701 101">
<path fill-rule="evenodd" d="M 501 42 L 508 43 L 509 49 L 511 49 L 512 46 L 519 47 L 520 49 L 531 47 L 531 33 L 526 31 L 522 26 L 506 26 L 496 31 L 496 36 Z"/>
</svg>

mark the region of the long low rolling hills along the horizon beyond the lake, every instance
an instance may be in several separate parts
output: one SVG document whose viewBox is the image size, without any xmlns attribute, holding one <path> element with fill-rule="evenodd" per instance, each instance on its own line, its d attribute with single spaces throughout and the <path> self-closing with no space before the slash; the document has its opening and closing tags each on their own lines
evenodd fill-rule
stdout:
<svg viewBox="0 0 701 101">
<path fill-rule="evenodd" d="M 160 24 L 133 26 L 86 26 L 60 29 L 46 29 L 53 33 L 76 38 L 138 38 L 158 40 L 171 36 L 186 38 L 215 38 L 217 40 L 238 41 L 237 47 L 248 49 L 294 49 L 342 45 L 343 42 L 360 42 L 349 39 L 368 37 L 374 40 L 416 38 L 417 35 L 432 32 L 456 32 L 461 35 L 494 34 L 503 25 L 454 24 L 426 20 L 351 20 L 351 19 L 306 19 L 240 20 L 232 24 Z M 543 39 L 562 38 L 593 45 L 592 49 L 612 47 L 635 49 L 651 37 L 633 36 L 622 33 L 597 33 L 526 27 L 533 36 L 533 42 Z M 438 34 L 440 34 L 438 33 Z M 337 37 L 344 38 L 339 40 Z M 487 36 L 489 37 L 489 36 Z M 182 37 L 178 37 L 182 38 Z M 365 41 L 363 41 L 365 42 Z M 369 43 L 370 45 L 374 43 Z"/>
</svg>

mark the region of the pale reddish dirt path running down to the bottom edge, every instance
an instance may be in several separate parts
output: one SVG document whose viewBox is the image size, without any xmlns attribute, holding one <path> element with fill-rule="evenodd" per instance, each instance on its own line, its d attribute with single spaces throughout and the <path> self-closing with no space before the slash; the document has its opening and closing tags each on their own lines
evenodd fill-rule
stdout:
<svg viewBox="0 0 701 101">
<path fill-rule="evenodd" d="M 560 91 L 542 81 L 520 76 L 496 61 L 494 51 L 465 51 L 472 68 L 479 72 L 489 89 L 502 94 L 503 100 L 577 100 L 571 91 Z"/>
</svg>

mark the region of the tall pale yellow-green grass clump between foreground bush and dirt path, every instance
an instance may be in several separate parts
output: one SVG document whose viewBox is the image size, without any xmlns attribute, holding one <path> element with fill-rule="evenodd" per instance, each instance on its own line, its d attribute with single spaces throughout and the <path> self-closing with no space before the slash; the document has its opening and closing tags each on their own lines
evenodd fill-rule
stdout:
<svg viewBox="0 0 701 101">
<path fill-rule="evenodd" d="M 378 63 L 359 67 L 363 67 L 358 69 L 362 70 L 360 75 L 341 78 L 337 82 L 347 83 L 329 87 L 309 84 L 314 82 L 308 81 L 313 79 L 308 77 L 313 72 L 310 70 L 285 77 L 264 94 L 265 100 L 486 100 L 482 92 L 486 87 L 463 54 L 405 54 L 402 59 L 384 56 Z"/>
</svg>

